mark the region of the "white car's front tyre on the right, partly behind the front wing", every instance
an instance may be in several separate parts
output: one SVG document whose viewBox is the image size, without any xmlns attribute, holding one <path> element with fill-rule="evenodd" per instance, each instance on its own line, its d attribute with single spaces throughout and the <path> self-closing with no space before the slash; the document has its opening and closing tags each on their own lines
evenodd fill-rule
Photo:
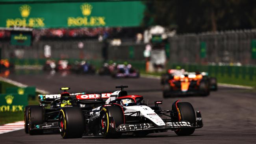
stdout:
<svg viewBox="0 0 256 144">
<path fill-rule="evenodd" d="M 196 123 L 196 116 L 193 106 L 188 102 L 177 103 L 178 113 L 180 120 L 187 120 L 191 125 Z M 177 129 L 175 133 L 179 136 L 191 135 L 195 131 L 195 128 Z"/>
</svg>

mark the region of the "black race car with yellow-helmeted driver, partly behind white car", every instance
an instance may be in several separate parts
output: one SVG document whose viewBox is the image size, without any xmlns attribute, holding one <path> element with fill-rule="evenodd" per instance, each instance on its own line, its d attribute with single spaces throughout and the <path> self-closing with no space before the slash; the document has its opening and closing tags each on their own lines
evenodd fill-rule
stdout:
<svg viewBox="0 0 256 144">
<path fill-rule="evenodd" d="M 28 105 L 25 107 L 25 133 L 39 135 L 44 132 L 59 132 L 59 111 L 63 107 L 74 105 L 74 103 L 69 101 L 70 97 L 76 96 L 76 94 L 85 94 L 84 92 L 70 94 L 67 92 L 68 89 L 68 87 L 61 88 L 61 90 L 64 90 L 61 94 L 39 94 L 39 105 Z M 48 104 L 50 104 L 50 108 L 47 107 Z"/>
</svg>

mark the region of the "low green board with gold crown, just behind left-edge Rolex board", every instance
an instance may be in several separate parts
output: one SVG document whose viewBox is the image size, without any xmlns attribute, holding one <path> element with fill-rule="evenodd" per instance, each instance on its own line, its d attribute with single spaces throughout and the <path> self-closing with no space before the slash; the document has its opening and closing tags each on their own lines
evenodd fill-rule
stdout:
<svg viewBox="0 0 256 144">
<path fill-rule="evenodd" d="M 15 93 L 15 94 L 28 94 L 29 97 L 35 98 L 35 87 L 8 87 L 6 88 L 6 93 Z"/>
</svg>

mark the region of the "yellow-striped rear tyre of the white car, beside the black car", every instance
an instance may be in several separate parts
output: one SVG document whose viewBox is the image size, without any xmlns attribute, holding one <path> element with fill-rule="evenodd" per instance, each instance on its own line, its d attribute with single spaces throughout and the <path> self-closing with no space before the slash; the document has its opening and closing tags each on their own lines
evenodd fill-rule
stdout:
<svg viewBox="0 0 256 144">
<path fill-rule="evenodd" d="M 81 138 L 85 118 L 80 107 L 64 107 L 59 112 L 59 131 L 63 138 Z"/>
</svg>

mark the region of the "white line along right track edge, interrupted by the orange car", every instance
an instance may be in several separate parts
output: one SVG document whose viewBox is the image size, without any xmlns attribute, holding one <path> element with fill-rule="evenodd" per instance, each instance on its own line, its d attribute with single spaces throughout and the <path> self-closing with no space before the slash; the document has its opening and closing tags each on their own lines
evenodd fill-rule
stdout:
<svg viewBox="0 0 256 144">
<path fill-rule="evenodd" d="M 141 78 L 151 78 L 151 79 L 160 79 L 160 76 L 154 76 L 150 74 L 140 74 Z M 232 85 L 232 84 L 226 84 L 226 83 L 218 83 L 218 86 L 221 87 L 230 87 L 230 88 L 237 88 L 237 89 L 254 89 L 254 87 L 249 86 L 243 86 L 243 85 Z"/>
</svg>

